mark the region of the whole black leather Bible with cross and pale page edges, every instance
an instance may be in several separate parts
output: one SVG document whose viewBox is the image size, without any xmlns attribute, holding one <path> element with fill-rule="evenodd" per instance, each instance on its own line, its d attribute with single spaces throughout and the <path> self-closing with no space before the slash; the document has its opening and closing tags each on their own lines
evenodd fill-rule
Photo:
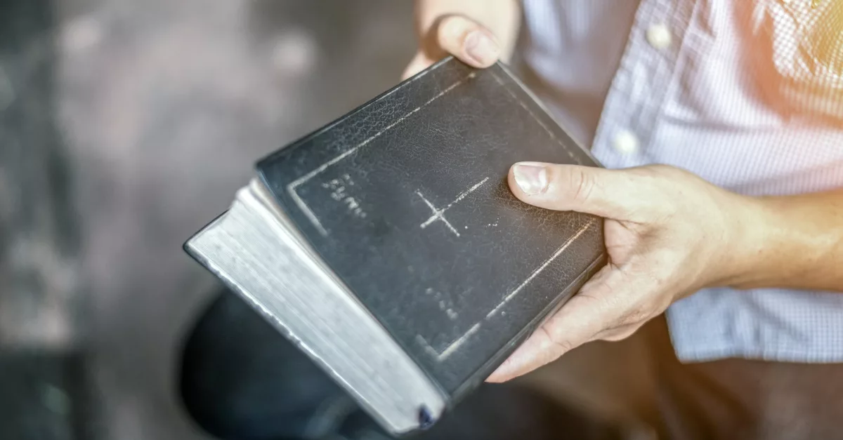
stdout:
<svg viewBox="0 0 843 440">
<path fill-rule="evenodd" d="M 446 58 L 257 164 L 190 253 L 395 435 L 435 423 L 605 262 L 518 161 L 599 166 L 502 64 Z"/>
</svg>

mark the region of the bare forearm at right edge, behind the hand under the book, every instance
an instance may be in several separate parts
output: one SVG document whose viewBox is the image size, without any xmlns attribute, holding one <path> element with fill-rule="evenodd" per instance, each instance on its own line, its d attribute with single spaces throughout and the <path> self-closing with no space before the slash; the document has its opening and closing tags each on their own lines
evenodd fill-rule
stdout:
<svg viewBox="0 0 843 440">
<path fill-rule="evenodd" d="M 843 190 L 750 200 L 730 285 L 843 292 Z"/>
</svg>

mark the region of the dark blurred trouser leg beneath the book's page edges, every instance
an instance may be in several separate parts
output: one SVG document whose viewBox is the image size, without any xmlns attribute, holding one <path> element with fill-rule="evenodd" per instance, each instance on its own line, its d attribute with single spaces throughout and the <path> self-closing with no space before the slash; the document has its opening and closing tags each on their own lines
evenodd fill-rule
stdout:
<svg viewBox="0 0 843 440">
<path fill-rule="evenodd" d="M 387 440 L 380 428 L 266 320 L 224 292 L 198 320 L 182 358 L 181 393 L 223 439 Z M 519 384 L 486 384 L 418 440 L 609 440 L 619 427 Z"/>
</svg>

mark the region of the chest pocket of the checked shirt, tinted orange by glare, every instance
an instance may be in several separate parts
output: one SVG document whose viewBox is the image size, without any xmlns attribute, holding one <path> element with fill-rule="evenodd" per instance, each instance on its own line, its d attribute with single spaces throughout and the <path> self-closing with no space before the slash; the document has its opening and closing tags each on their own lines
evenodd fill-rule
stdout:
<svg viewBox="0 0 843 440">
<path fill-rule="evenodd" d="M 754 8 L 748 56 L 770 104 L 791 116 L 843 125 L 843 0 L 744 4 Z"/>
</svg>

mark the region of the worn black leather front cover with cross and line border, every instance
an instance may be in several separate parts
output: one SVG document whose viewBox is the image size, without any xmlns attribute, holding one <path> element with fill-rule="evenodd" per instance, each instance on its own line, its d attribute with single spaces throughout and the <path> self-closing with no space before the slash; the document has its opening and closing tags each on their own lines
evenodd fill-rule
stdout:
<svg viewBox="0 0 843 440">
<path fill-rule="evenodd" d="M 459 399 L 605 260 L 601 219 L 518 201 L 518 161 L 599 166 L 501 64 L 454 58 L 264 158 L 309 243 Z"/>
</svg>

